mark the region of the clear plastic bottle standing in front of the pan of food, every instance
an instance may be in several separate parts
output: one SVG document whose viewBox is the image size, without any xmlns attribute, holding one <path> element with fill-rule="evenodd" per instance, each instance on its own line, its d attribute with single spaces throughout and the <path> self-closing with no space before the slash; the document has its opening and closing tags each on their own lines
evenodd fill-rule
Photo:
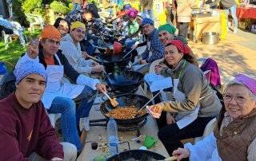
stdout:
<svg viewBox="0 0 256 161">
<path fill-rule="evenodd" d="M 115 122 L 113 118 L 110 118 L 107 123 L 107 134 L 109 139 L 109 152 L 110 155 L 115 155 L 118 153 L 118 124 Z"/>
</svg>

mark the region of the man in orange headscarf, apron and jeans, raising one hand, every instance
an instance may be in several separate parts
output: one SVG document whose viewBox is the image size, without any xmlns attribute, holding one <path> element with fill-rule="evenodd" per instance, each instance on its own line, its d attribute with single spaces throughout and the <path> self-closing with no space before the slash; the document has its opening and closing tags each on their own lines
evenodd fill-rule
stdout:
<svg viewBox="0 0 256 161">
<path fill-rule="evenodd" d="M 89 112 L 97 95 L 96 89 L 106 92 L 106 87 L 96 79 L 79 75 L 72 68 L 62 51 L 58 50 L 60 39 L 61 35 L 54 26 L 46 26 L 42 30 L 39 51 L 36 49 L 38 45 L 29 45 L 27 53 L 15 68 L 28 60 L 38 61 L 46 67 L 48 79 L 42 103 L 47 112 L 62 114 L 63 140 L 74 143 L 78 151 L 82 151 L 77 126 L 83 133 L 90 129 Z M 64 75 L 76 84 L 63 81 Z M 75 101 L 79 103 L 78 107 Z"/>
</svg>

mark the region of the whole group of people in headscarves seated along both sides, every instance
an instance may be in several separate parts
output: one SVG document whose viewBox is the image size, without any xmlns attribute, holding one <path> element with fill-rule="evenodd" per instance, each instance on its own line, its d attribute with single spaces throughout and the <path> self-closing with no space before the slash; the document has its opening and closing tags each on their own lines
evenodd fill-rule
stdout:
<svg viewBox="0 0 256 161">
<path fill-rule="evenodd" d="M 94 11 L 73 10 L 65 19 L 58 18 L 54 26 L 45 26 L 40 40 L 30 41 L 19 58 L 13 72 L 16 90 L 0 100 L 1 159 L 75 160 L 82 151 L 90 130 L 90 108 L 98 92 L 107 92 L 105 84 L 90 77 L 104 70 L 88 58 L 99 43 L 95 35 L 111 38 L 111 29 Z M 254 160 L 256 80 L 244 74 L 236 76 L 226 86 L 222 105 L 186 37 L 176 35 L 174 26 L 156 29 L 153 19 L 138 18 L 138 11 L 131 7 L 113 20 L 126 22 L 126 18 L 128 32 L 119 41 L 130 49 L 146 45 L 145 51 L 134 57 L 131 69 L 146 74 L 152 62 L 162 59 L 155 73 L 170 77 L 167 84 L 172 98 L 155 100 L 149 107 L 158 122 L 158 138 L 168 153 L 178 160 Z M 91 28 L 97 31 L 88 32 Z M 136 43 L 140 35 L 145 41 Z M 56 113 L 61 113 L 63 143 L 47 116 Z M 202 136 L 214 118 L 218 118 L 214 133 L 195 145 L 182 144 L 182 139 Z"/>
</svg>

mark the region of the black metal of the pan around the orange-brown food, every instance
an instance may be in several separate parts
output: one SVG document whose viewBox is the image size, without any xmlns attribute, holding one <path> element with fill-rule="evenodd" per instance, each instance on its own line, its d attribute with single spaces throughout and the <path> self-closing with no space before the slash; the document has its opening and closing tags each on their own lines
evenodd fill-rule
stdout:
<svg viewBox="0 0 256 161">
<path fill-rule="evenodd" d="M 118 95 L 118 96 L 115 96 L 115 98 L 118 101 L 118 104 L 120 107 L 134 105 L 138 109 L 142 108 L 142 106 L 149 101 L 149 99 L 146 96 L 136 95 L 133 93 Z M 113 108 L 114 107 L 110 104 L 110 100 L 106 100 L 101 105 L 100 110 L 106 118 L 109 118 L 109 116 L 107 116 L 106 114 L 110 112 Z M 147 116 L 149 116 L 148 113 L 144 114 L 143 116 L 137 116 L 133 119 L 127 119 L 127 120 L 114 119 L 114 120 L 116 120 L 118 124 L 138 124 L 143 120 L 145 120 Z"/>
</svg>

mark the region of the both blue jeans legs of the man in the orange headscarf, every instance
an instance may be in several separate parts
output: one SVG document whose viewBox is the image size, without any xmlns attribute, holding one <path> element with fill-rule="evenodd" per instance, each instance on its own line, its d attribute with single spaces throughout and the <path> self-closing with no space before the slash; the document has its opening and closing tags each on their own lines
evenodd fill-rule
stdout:
<svg viewBox="0 0 256 161">
<path fill-rule="evenodd" d="M 74 100 L 58 96 L 48 109 L 50 113 L 61 113 L 63 141 L 73 143 L 78 151 L 82 151 L 82 144 L 78 136 L 77 126 L 80 118 L 89 116 L 90 108 L 94 104 L 97 91 L 85 86 L 83 91 Z M 78 108 L 76 108 L 76 104 Z"/>
</svg>

